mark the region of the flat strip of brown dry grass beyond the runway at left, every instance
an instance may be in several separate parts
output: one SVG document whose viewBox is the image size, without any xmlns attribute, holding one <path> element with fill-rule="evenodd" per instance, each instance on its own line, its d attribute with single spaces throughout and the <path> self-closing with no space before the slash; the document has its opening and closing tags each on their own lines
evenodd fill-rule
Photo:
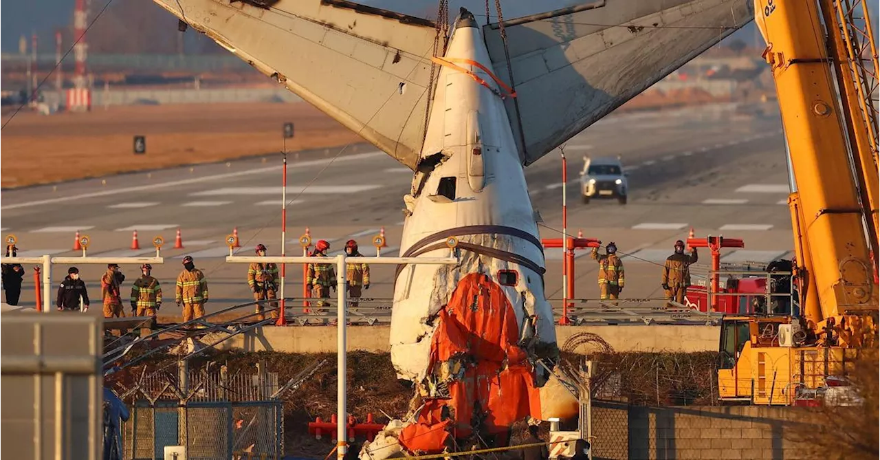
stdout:
<svg viewBox="0 0 880 460">
<path fill-rule="evenodd" d="M 0 117 L 0 125 L 8 119 Z M 22 112 L 0 133 L 0 186 L 279 152 L 287 121 L 296 127 L 287 142 L 291 151 L 363 142 L 305 103 L 113 106 L 52 116 Z M 134 135 L 147 136 L 146 155 L 133 153 Z"/>
</svg>

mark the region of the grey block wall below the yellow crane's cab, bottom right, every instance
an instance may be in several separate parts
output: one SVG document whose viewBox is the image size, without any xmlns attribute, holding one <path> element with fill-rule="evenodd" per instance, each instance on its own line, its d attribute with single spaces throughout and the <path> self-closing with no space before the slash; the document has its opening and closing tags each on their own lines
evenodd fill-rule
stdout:
<svg viewBox="0 0 880 460">
<path fill-rule="evenodd" d="M 593 457 L 805 458 L 792 441 L 794 407 L 643 407 L 595 402 Z"/>
</svg>

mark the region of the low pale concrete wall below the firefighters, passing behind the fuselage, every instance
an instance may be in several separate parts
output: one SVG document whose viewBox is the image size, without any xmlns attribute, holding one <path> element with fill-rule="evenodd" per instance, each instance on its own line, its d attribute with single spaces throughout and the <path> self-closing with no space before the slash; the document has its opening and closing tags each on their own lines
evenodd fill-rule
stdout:
<svg viewBox="0 0 880 460">
<path fill-rule="evenodd" d="M 387 353 L 388 325 L 363 325 L 348 328 L 348 350 Z M 597 333 L 621 352 L 701 352 L 718 349 L 718 326 L 705 325 L 590 325 L 557 326 L 556 340 L 561 345 L 578 332 Z M 212 341 L 209 339 L 206 342 Z M 262 327 L 238 335 L 218 347 L 247 352 L 279 351 L 286 353 L 335 353 L 335 326 Z"/>
</svg>

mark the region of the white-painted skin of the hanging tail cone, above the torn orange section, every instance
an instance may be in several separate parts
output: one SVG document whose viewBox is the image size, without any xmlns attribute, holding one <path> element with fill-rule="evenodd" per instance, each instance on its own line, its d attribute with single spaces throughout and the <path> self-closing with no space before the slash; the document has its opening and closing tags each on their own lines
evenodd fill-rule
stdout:
<svg viewBox="0 0 880 460">
<path fill-rule="evenodd" d="M 446 57 L 473 60 L 492 69 L 480 30 L 473 26 L 458 26 Z M 477 67 L 456 64 L 495 86 L 492 78 Z M 477 131 L 481 134 L 482 178 L 469 173 L 480 169 L 474 167 L 475 158 L 471 157 Z M 404 223 L 401 255 L 424 237 L 472 225 L 524 230 L 539 241 L 523 166 L 502 99 L 466 73 L 448 67 L 441 67 L 437 77 L 422 158 L 438 152 L 447 159 L 430 172 L 421 193 L 416 191 L 422 173 L 414 175 L 413 191 L 407 196 L 407 208 L 412 215 Z M 456 178 L 454 200 L 432 199 L 430 195 L 436 195 L 440 180 L 450 177 Z M 545 267 L 542 250 L 521 237 L 499 233 L 461 236 L 458 240 L 512 252 Z M 449 253 L 444 248 L 421 257 L 444 257 Z M 498 283 L 498 270 L 516 270 L 517 285 L 502 288 L 516 312 L 520 337 L 532 335 L 533 331 L 539 342 L 555 344 L 553 311 L 544 296 L 540 274 L 505 260 L 465 250 L 460 254 L 462 263 L 458 267 L 407 266 L 396 280 L 390 341 L 392 361 L 401 378 L 418 382 L 426 375 L 434 332 L 429 319 L 449 301 L 458 281 L 467 274 L 488 274 Z M 524 326 L 524 318 L 529 317 L 536 317 L 534 329 Z M 541 369 L 539 372 L 543 373 Z"/>
</svg>

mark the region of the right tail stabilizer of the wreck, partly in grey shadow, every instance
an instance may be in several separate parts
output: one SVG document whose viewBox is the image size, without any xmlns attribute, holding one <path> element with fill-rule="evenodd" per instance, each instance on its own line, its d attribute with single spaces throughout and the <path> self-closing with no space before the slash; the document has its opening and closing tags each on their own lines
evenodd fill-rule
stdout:
<svg viewBox="0 0 880 460">
<path fill-rule="evenodd" d="M 505 107 L 524 164 L 748 24 L 753 8 L 752 0 L 599 0 L 505 21 L 517 92 Z M 496 75 L 510 85 L 501 27 L 483 33 Z"/>
</svg>

